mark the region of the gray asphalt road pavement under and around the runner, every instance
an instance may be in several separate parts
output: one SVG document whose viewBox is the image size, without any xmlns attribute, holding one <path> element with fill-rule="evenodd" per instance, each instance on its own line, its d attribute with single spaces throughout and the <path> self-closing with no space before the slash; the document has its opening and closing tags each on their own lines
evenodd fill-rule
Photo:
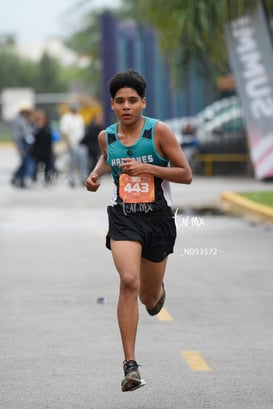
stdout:
<svg viewBox="0 0 273 409">
<path fill-rule="evenodd" d="M 122 394 L 118 277 L 104 247 L 108 177 L 100 190 L 9 185 L 0 150 L 1 409 L 270 409 L 273 405 L 273 228 L 196 213 L 224 190 L 265 190 L 251 178 L 173 185 L 178 237 L 166 310 L 140 306 L 137 359 L 147 385 Z M 98 304 L 105 297 L 105 304 Z M 197 351 L 209 371 L 193 370 Z"/>
</svg>

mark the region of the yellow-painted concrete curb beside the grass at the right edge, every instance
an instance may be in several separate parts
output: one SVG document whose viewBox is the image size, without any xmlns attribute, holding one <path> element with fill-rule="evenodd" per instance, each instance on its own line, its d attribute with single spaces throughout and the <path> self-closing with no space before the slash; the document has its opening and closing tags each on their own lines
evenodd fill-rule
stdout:
<svg viewBox="0 0 273 409">
<path fill-rule="evenodd" d="M 255 203 L 236 193 L 223 192 L 221 202 L 223 210 L 227 213 L 273 222 L 273 208 Z"/>
</svg>

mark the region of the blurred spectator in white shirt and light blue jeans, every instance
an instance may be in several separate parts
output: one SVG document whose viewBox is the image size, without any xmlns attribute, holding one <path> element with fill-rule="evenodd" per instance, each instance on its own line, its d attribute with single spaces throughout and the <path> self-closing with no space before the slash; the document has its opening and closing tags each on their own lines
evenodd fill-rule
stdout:
<svg viewBox="0 0 273 409">
<path fill-rule="evenodd" d="M 78 109 L 78 104 L 71 104 L 69 112 L 63 114 L 60 119 L 60 132 L 69 152 L 68 178 L 71 187 L 75 186 L 77 172 L 82 185 L 88 176 L 88 150 L 86 145 L 80 144 L 85 124 Z"/>
</svg>

